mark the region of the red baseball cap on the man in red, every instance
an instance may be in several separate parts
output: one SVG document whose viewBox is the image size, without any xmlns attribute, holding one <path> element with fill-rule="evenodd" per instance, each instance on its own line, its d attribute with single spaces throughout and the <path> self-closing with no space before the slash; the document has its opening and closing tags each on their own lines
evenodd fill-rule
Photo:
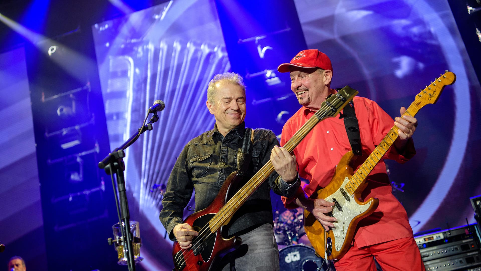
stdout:
<svg viewBox="0 0 481 271">
<path fill-rule="evenodd" d="M 277 67 L 277 70 L 279 72 L 289 72 L 291 71 L 291 66 L 299 68 L 322 68 L 332 71 L 332 64 L 329 57 L 319 52 L 319 50 L 312 49 L 299 52 L 299 54 L 292 58 L 291 63 L 283 63 Z"/>
</svg>

